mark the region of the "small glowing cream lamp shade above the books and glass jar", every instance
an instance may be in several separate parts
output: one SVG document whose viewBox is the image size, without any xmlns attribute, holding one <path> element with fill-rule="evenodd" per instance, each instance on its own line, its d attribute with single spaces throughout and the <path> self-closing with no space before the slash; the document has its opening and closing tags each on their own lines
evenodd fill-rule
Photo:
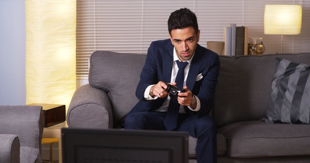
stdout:
<svg viewBox="0 0 310 163">
<path fill-rule="evenodd" d="M 264 33 L 297 35 L 301 30 L 301 5 L 266 5 Z"/>
</svg>

